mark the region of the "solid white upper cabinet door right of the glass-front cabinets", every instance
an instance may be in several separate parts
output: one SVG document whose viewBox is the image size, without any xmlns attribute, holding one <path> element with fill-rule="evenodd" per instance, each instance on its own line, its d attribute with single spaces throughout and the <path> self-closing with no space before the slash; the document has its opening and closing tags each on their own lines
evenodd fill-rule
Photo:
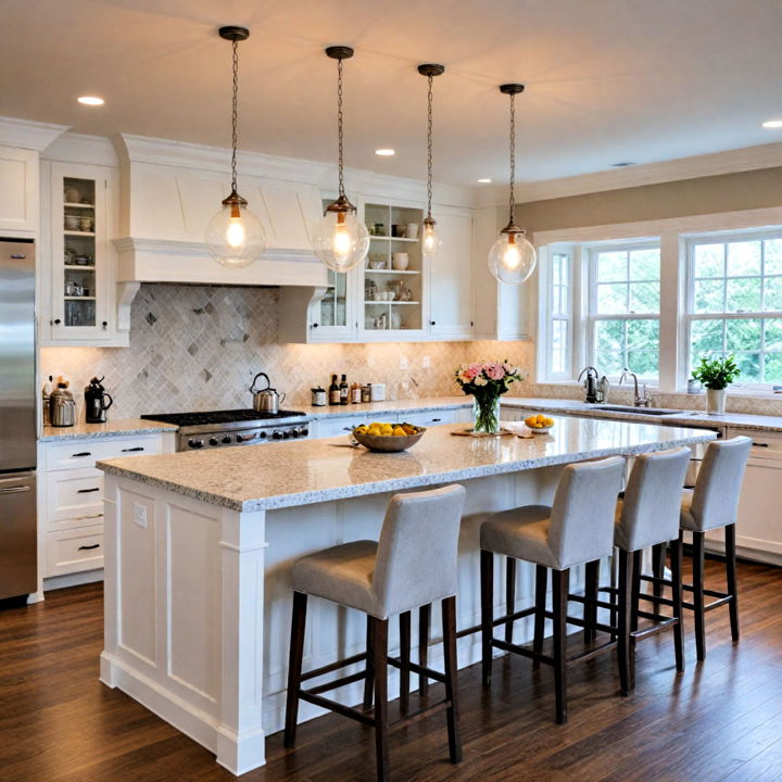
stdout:
<svg viewBox="0 0 782 782">
<path fill-rule="evenodd" d="M 472 336 L 472 215 L 468 210 L 439 207 L 440 252 L 429 265 L 429 336 Z"/>
</svg>

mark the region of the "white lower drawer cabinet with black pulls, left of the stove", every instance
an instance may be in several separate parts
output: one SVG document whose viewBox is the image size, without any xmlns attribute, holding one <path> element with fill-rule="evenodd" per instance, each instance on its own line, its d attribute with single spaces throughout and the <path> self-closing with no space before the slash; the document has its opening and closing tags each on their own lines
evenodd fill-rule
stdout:
<svg viewBox="0 0 782 782">
<path fill-rule="evenodd" d="M 159 433 L 40 443 L 41 578 L 103 567 L 103 472 L 96 462 L 172 451 L 173 436 Z"/>
</svg>

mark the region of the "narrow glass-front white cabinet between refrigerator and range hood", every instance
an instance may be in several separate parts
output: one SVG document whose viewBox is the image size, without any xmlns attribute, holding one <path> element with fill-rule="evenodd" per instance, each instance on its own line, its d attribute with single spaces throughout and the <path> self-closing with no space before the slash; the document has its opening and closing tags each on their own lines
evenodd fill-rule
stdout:
<svg viewBox="0 0 782 782">
<path fill-rule="evenodd" d="M 99 166 L 51 166 L 51 339 L 110 338 L 108 179 Z"/>
</svg>

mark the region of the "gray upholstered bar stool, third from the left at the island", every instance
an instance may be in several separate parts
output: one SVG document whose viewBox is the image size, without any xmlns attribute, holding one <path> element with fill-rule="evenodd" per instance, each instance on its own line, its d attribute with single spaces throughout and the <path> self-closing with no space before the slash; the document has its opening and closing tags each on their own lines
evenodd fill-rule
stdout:
<svg viewBox="0 0 782 782">
<path fill-rule="evenodd" d="M 640 454 L 635 457 L 623 496 L 617 503 L 614 545 L 619 551 L 617 608 L 622 695 L 628 695 L 634 688 L 635 642 L 660 630 L 673 628 L 677 670 L 684 670 L 679 506 L 691 455 L 686 447 Z M 641 572 L 641 554 L 648 546 L 667 544 L 671 546 L 671 597 L 652 598 L 655 609 L 652 613 L 641 610 L 639 600 L 645 595 L 641 595 L 635 586 Z M 589 584 L 590 588 L 594 586 Z M 658 614 L 658 603 L 670 606 L 672 616 Z M 594 601 L 591 607 L 596 609 Z M 639 630 L 639 617 L 654 623 Z"/>
</svg>

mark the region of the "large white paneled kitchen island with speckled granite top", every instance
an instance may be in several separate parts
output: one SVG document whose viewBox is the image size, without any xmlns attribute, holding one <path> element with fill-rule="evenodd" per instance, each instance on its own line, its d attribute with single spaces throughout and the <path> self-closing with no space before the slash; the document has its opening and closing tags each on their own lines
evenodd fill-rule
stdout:
<svg viewBox="0 0 782 782">
<path fill-rule="evenodd" d="M 471 627 L 479 620 L 478 532 L 489 514 L 550 503 L 569 463 L 714 438 L 567 417 L 532 439 L 453 436 L 464 429 L 431 428 L 398 454 L 345 447 L 341 438 L 99 463 L 106 472 L 101 680 L 243 773 L 263 765 L 265 736 L 282 727 L 294 559 L 377 540 L 393 493 L 458 481 L 467 499 L 457 613 L 459 627 Z M 533 573 L 518 568 L 520 600 L 531 595 Z M 362 651 L 362 615 L 312 603 L 305 669 Z M 518 622 L 515 640 L 528 633 Z M 436 664 L 438 653 L 433 644 Z M 462 639 L 459 664 L 479 656 L 479 639 Z M 398 679 L 389 691 L 399 691 Z M 339 693 L 345 703 L 361 701 L 357 685 Z M 319 714 L 306 706 L 300 719 Z"/>
</svg>

